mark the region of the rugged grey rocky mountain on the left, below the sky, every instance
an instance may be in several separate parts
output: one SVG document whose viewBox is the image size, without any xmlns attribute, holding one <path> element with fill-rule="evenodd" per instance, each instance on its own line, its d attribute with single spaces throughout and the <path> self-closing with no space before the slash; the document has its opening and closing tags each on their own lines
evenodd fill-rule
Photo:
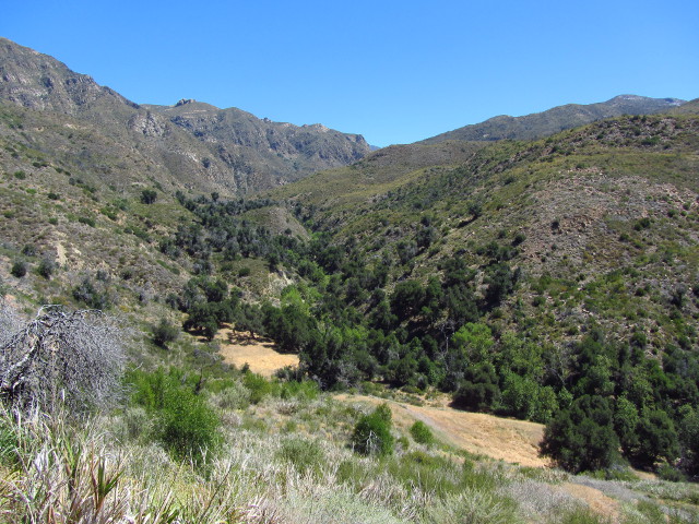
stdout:
<svg viewBox="0 0 699 524">
<path fill-rule="evenodd" d="M 90 133 L 112 141 L 108 156 L 138 152 L 152 169 L 199 191 L 253 192 L 369 152 L 360 135 L 320 124 L 298 128 L 197 103 L 139 106 L 54 58 L 7 39 L 0 39 L 0 102 L 38 111 L 52 123 L 70 117 Z M 50 148 L 51 140 L 45 146 Z M 91 150 L 90 144 L 85 147 Z M 92 156 L 102 153 L 93 150 Z"/>
</svg>

